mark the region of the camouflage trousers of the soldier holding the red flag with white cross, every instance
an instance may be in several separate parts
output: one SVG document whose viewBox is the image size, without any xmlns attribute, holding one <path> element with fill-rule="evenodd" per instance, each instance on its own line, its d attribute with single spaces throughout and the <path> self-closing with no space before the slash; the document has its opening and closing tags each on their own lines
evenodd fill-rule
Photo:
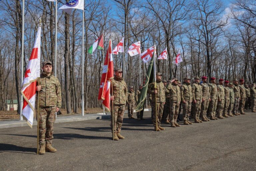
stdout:
<svg viewBox="0 0 256 171">
<path fill-rule="evenodd" d="M 125 104 L 114 104 L 114 133 L 120 133 L 121 127 L 124 119 L 124 110 Z M 112 109 L 111 109 L 112 112 Z M 112 126 L 112 117 L 111 117 L 111 130 L 113 131 Z"/>
</svg>

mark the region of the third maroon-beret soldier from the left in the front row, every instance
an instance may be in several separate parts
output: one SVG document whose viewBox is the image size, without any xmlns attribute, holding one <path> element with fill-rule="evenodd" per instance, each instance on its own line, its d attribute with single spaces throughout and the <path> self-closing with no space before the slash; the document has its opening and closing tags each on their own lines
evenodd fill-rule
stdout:
<svg viewBox="0 0 256 171">
<path fill-rule="evenodd" d="M 224 117 L 222 116 L 224 103 L 225 103 L 225 90 L 223 87 L 223 82 L 224 80 L 222 78 L 219 79 L 219 84 L 217 86 L 217 90 L 218 90 L 217 116 L 219 119 L 224 119 Z"/>
</svg>

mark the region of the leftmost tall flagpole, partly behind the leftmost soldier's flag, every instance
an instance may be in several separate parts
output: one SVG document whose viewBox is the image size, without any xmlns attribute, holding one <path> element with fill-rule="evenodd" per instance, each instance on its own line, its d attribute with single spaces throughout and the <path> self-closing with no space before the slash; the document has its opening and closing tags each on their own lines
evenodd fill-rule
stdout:
<svg viewBox="0 0 256 171">
<path fill-rule="evenodd" d="M 21 85 L 23 82 L 23 61 L 24 61 L 24 11 L 25 11 L 25 0 L 22 0 L 22 36 L 21 36 Z M 23 108 L 23 96 L 20 98 L 20 120 L 23 120 L 22 117 L 22 108 Z"/>
</svg>

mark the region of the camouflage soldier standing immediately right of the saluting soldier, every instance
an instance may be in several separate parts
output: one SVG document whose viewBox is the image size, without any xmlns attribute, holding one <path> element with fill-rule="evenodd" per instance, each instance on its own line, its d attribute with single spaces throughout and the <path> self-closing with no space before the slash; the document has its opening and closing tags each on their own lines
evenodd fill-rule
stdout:
<svg viewBox="0 0 256 171">
<path fill-rule="evenodd" d="M 181 86 L 180 95 L 181 95 L 181 102 L 183 108 L 183 124 L 189 125 L 192 122 L 189 121 L 189 116 L 191 112 L 191 103 L 192 103 L 192 87 L 190 85 L 190 78 L 185 77 L 183 79 L 183 84 Z"/>
</svg>

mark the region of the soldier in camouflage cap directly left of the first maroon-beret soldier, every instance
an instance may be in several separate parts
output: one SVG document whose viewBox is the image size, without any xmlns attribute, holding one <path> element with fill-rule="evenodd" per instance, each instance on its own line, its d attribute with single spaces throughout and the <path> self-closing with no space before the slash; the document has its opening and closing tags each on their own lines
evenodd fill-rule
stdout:
<svg viewBox="0 0 256 171">
<path fill-rule="evenodd" d="M 203 122 L 199 119 L 199 115 L 201 112 L 202 94 L 203 94 L 202 86 L 199 84 L 199 82 L 200 82 L 200 78 L 195 77 L 194 83 L 192 85 L 192 96 L 193 96 L 192 113 L 194 116 L 195 123 Z"/>
</svg>

